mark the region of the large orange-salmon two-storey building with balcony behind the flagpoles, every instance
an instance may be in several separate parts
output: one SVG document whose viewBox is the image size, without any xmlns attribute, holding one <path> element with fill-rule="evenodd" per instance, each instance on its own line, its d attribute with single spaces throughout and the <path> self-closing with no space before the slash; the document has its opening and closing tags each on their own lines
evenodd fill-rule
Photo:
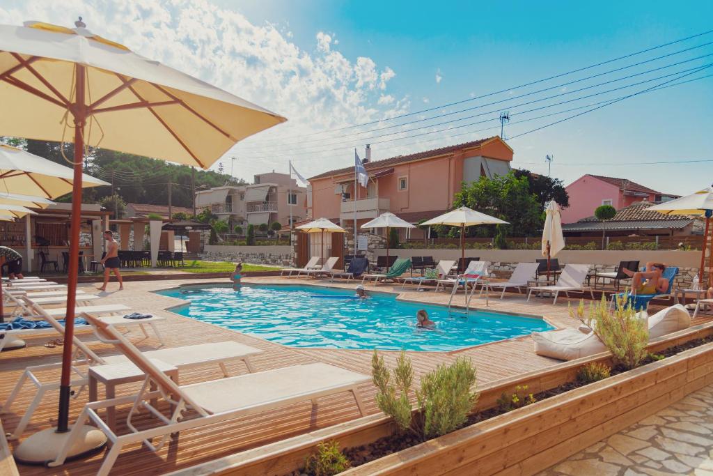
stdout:
<svg viewBox="0 0 713 476">
<path fill-rule="evenodd" d="M 357 226 L 387 211 L 418 223 L 451 208 L 461 183 L 505 175 L 512 160 L 513 149 L 498 136 L 373 162 L 366 146 L 369 185 L 357 185 L 355 193 L 354 166 L 309 178 L 308 216 L 351 226 L 356 206 Z M 411 231 L 419 236 L 421 231 Z"/>
</svg>

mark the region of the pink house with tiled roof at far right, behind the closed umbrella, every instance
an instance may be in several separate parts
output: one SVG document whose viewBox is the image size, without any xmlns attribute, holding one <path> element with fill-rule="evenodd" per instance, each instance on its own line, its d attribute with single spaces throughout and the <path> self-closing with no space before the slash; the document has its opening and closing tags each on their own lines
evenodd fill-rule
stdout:
<svg viewBox="0 0 713 476">
<path fill-rule="evenodd" d="M 677 198 L 630 181 L 587 174 L 570 183 L 565 190 L 570 206 L 562 211 L 562 223 L 575 223 L 594 215 L 598 206 L 611 205 L 617 210 L 640 201 L 662 202 Z"/>
</svg>

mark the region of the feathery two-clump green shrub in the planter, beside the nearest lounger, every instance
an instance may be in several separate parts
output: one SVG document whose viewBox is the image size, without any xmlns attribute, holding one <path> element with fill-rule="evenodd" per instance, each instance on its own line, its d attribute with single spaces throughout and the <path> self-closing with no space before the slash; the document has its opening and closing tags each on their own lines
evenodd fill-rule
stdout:
<svg viewBox="0 0 713 476">
<path fill-rule="evenodd" d="M 445 435 L 463 426 L 468 414 L 478 401 L 475 391 L 476 369 L 471 361 L 458 358 L 451 365 L 439 365 L 436 370 L 421 378 L 421 388 L 416 389 L 417 411 L 412 414 L 409 390 L 414 381 L 411 360 L 403 351 L 391 373 L 374 350 L 371 358 L 376 405 L 394 418 L 402 432 L 411 432 L 421 440 Z"/>
</svg>

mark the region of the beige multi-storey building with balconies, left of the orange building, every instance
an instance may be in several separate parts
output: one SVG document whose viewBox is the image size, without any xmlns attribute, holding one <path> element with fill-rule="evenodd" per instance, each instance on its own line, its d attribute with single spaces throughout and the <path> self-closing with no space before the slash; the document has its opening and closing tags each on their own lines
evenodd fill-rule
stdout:
<svg viewBox="0 0 713 476">
<path fill-rule="evenodd" d="M 210 208 L 230 229 L 236 225 L 278 222 L 289 225 L 307 218 L 307 188 L 297 186 L 287 173 L 260 173 L 255 183 L 222 186 L 195 193 L 196 208 Z M 292 210 L 290 210 L 292 209 Z"/>
</svg>

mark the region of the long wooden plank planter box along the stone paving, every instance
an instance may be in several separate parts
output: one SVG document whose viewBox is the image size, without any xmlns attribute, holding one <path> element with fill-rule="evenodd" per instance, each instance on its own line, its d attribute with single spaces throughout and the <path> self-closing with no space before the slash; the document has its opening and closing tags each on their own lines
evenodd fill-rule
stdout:
<svg viewBox="0 0 713 476">
<path fill-rule="evenodd" d="M 713 335 L 713 323 L 654 340 L 649 349 L 656 352 L 708 335 Z M 513 393 L 518 385 L 540 393 L 573 381 L 587 363 L 608 363 L 610 359 L 608 353 L 602 353 L 483 385 L 478 410 L 496 406 L 502 393 Z M 530 475 L 709 383 L 713 383 L 713 343 L 478 422 L 342 474 Z M 299 469 L 319 442 L 337 440 L 342 447 L 366 445 L 394 429 L 389 417 L 370 415 L 173 474 L 285 475 Z"/>
</svg>

